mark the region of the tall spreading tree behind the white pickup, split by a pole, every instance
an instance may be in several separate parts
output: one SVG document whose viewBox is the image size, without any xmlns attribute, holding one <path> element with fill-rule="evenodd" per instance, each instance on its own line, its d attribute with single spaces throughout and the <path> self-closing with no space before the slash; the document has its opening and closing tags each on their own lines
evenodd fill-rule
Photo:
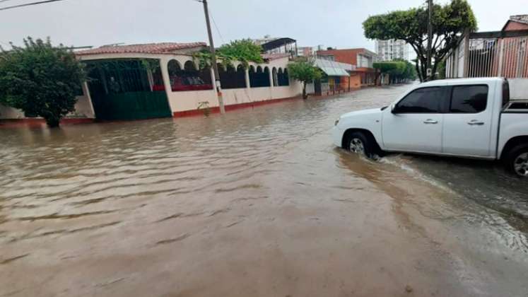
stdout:
<svg viewBox="0 0 528 297">
<path fill-rule="evenodd" d="M 476 18 L 466 0 L 452 0 L 443 6 L 433 5 L 433 74 L 438 62 L 445 58 L 450 50 L 457 47 L 460 35 L 476 30 Z M 370 39 L 405 40 L 418 59 L 416 71 L 420 81 L 427 80 L 427 40 L 428 8 L 421 6 L 407 11 L 393 11 L 370 16 L 363 22 L 365 37 Z"/>
</svg>

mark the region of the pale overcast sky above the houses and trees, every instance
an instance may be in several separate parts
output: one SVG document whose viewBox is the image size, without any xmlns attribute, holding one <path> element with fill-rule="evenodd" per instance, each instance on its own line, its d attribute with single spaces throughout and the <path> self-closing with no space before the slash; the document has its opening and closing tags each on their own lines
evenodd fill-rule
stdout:
<svg viewBox="0 0 528 297">
<path fill-rule="evenodd" d="M 4 0 L 0 7 L 37 0 Z M 510 15 L 528 13 L 528 0 L 469 0 L 480 31 L 500 30 Z M 292 37 L 299 46 L 366 47 L 368 16 L 416 7 L 424 0 L 209 0 L 216 45 L 264 35 Z M 446 3 L 435 0 L 435 3 Z M 520 11 L 523 9 L 524 11 Z M 196 0 L 66 0 L 0 11 L 0 45 L 25 36 L 64 45 L 206 41 Z"/>
</svg>

